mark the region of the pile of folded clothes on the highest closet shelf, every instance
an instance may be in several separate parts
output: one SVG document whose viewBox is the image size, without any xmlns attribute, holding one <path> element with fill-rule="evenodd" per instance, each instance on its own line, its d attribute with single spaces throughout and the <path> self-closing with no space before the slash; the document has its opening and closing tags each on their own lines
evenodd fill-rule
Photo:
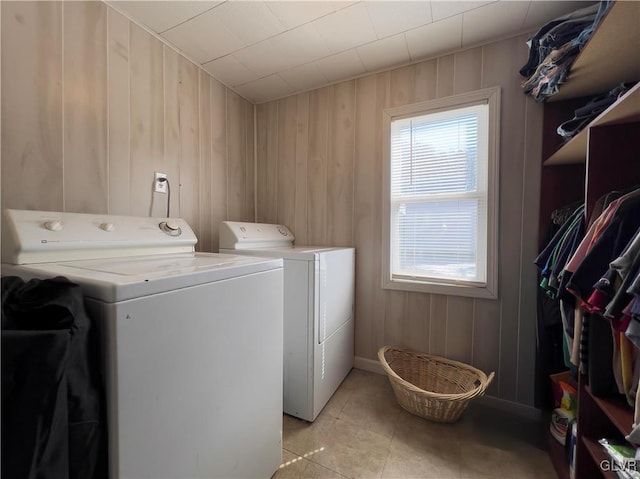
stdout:
<svg viewBox="0 0 640 479">
<path fill-rule="evenodd" d="M 555 95 L 571 65 L 604 17 L 611 0 L 602 0 L 544 25 L 527 42 L 529 59 L 520 69 L 526 94 L 542 102 Z"/>
</svg>

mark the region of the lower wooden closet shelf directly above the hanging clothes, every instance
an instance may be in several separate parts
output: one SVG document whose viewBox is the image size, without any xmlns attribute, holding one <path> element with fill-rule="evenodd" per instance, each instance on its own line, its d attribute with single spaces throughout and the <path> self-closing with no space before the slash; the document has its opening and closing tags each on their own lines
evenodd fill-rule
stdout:
<svg viewBox="0 0 640 479">
<path fill-rule="evenodd" d="M 567 118 L 567 120 L 569 119 Z M 587 158 L 589 128 L 637 121 L 640 121 L 640 83 L 637 83 L 589 125 L 585 126 L 580 133 L 558 148 L 543 164 L 547 166 L 584 163 Z"/>
</svg>

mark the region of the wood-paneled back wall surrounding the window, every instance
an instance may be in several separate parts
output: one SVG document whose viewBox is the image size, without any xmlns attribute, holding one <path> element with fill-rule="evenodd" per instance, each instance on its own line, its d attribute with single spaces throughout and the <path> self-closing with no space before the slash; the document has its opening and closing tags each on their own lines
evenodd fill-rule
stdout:
<svg viewBox="0 0 640 479">
<path fill-rule="evenodd" d="M 300 244 L 356 247 L 356 355 L 382 345 L 465 361 L 489 394 L 533 404 L 542 109 L 523 95 L 526 37 L 257 106 L 257 220 Z M 381 287 L 382 110 L 500 86 L 499 299 Z"/>
</svg>

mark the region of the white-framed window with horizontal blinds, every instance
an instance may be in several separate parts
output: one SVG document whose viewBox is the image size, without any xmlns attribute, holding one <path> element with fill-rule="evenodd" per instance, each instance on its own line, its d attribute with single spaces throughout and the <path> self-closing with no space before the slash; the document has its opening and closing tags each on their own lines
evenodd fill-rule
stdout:
<svg viewBox="0 0 640 479">
<path fill-rule="evenodd" d="M 499 90 L 385 110 L 386 288 L 497 297 Z"/>
</svg>

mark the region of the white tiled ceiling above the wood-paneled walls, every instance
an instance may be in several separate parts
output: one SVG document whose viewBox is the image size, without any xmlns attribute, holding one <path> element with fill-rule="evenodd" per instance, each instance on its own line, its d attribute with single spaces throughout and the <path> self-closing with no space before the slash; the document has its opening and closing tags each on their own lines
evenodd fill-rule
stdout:
<svg viewBox="0 0 640 479">
<path fill-rule="evenodd" d="M 261 103 L 522 32 L 593 2 L 109 1 Z"/>
</svg>

